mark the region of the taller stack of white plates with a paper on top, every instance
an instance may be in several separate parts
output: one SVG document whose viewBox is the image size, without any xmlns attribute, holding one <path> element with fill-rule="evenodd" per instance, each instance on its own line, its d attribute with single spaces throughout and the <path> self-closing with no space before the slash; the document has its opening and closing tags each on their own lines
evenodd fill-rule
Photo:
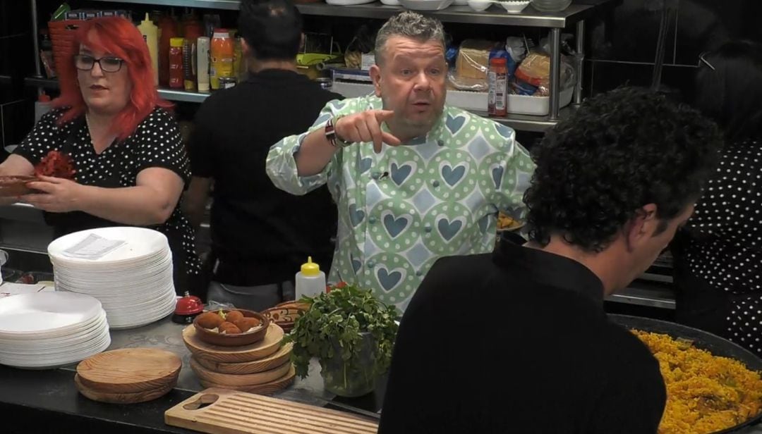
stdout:
<svg viewBox="0 0 762 434">
<path fill-rule="evenodd" d="M 64 253 L 89 235 L 125 244 L 98 259 Z M 140 327 L 174 311 L 172 254 L 161 232 L 128 227 L 80 231 L 50 243 L 48 254 L 56 290 L 98 298 L 112 329 Z"/>
</svg>

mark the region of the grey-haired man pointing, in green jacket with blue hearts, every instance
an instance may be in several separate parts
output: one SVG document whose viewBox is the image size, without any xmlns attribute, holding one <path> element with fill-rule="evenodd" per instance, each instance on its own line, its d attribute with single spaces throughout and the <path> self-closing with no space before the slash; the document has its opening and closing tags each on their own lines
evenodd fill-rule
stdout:
<svg viewBox="0 0 762 434">
<path fill-rule="evenodd" d="M 397 14 L 375 53 L 375 94 L 329 102 L 271 148 L 267 174 L 293 194 L 328 183 L 339 211 L 329 281 L 404 310 L 438 258 L 492 251 L 498 210 L 523 218 L 534 164 L 512 129 L 444 104 L 439 21 Z"/>
</svg>

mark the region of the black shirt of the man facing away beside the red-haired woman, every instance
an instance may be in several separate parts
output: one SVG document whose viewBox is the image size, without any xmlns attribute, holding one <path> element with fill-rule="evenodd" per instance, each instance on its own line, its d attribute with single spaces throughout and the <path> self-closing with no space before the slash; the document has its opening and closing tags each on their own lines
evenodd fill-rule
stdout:
<svg viewBox="0 0 762 434">
<path fill-rule="evenodd" d="M 293 280 L 307 255 L 330 269 L 338 220 L 328 189 L 293 196 L 277 189 L 264 167 L 271 145 L 305 132 L 337 98 L 304 75 L 267 69 L 200 107 L 191 168 L 195 177 L 214 180 L 213 254 L 227 270 L 237 269 L 237 276 L 216 280 L 248 286 Z"/>
</svg>

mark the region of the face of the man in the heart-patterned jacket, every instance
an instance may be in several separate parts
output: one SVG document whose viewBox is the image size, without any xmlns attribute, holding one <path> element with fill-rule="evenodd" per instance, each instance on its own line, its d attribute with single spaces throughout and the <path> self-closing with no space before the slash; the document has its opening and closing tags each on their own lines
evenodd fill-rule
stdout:
<svg viewBox="0 0 762 434">
<path fill-rule="evenodd" d="M 381 58 L 381 65 L 373 65 L 370 70 L 376 96 L 381 97 L 386 110 L 394 111 L 395 125 L 425 134 L 444 110 L 444 47 L 434 40 L 390 37 Z"/>
</svg>

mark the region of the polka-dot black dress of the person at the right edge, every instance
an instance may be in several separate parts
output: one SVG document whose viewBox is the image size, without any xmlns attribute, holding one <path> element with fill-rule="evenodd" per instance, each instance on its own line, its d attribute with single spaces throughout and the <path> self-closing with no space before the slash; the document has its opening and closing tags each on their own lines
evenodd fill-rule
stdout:
<svg viewBox="0 0 762 434">
<path fill-rule="evenodd" d="M 715 293 L 694 309 L 696 325 L 702 316 L 714 318 L 702 328 L 762 355 L 762 144 L 723 150 L 687 234 L 681 252 L 691 282 L 684 288 L 687 305 L 700 305 L 701 292 Z"/>
</svg>

